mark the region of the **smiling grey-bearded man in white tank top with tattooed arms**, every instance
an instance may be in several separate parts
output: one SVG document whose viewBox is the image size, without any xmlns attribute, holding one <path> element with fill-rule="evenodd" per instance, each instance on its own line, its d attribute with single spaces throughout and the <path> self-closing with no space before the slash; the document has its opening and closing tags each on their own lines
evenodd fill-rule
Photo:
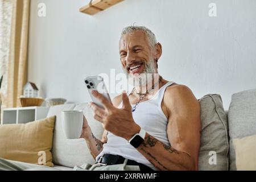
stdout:
<svg viewBox="0 0 256 182">
<path fill-rule="evenodd" d="M 119 53 L 135 87 L 115 97 L 113 105 L 97 91 L 92 93 L 104 105 L 89 104 L 105 128 L 102 139 L 96 139 L 84 118 L 81 137 L 96 158 L 93 169 L 124 164 L 133 167 L 122 168 L 127 170 L 197 170 L 200 104 L 187 86 L 159 75 L 162 45 L 148 28 L 129 26 L 122 31 Z M 152 77 L 145 79 L 145 74 Z"/>
</svg>

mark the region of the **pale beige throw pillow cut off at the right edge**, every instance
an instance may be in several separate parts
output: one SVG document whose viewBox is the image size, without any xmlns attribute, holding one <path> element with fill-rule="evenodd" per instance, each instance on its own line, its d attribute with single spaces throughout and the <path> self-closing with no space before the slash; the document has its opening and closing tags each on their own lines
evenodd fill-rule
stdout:
<svg viewBox="0 0 256 182">
<path fill-rule="evenodd" d="M 233 139 L 237 170 L 256 171 L 256 135 Z"/>
</svg>

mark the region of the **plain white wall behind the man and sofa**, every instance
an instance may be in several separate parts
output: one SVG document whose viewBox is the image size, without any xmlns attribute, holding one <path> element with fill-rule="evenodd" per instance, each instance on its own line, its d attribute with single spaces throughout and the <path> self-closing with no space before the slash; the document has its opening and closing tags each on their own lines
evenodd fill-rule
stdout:
<svg viewBox="0 0 256 182">
<path fill-rule="evenodd" d="M 40 2 L 45 18 L 38 16 Z M 122 72 L 119 35 L 135 22 L 163 45 L 162 76 L 189 86 L 197 98 L 219 93 L 228 109 L 233 93 L 256 88 L 256 1 L 126 0 L 94 16 L 79 12 L 87 2 L 31 1 L 28 79 L 42 97 L 89 101 L 83 78 Z M 208 16 L 210 2 L 216 18 Z"/>
</svg>

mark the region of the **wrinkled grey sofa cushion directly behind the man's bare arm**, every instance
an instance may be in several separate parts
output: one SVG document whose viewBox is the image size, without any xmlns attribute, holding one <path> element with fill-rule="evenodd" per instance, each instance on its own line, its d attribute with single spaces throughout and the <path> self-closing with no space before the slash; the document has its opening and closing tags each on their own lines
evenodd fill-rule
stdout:
<svg viewBox="0 0 256 182">
<path fill-rule="evenodd" d="M 208 94 L 199 101 L 201 106 L 199 170 L 228 170 L 228 121 L 221 96 Z"/>
</svg>

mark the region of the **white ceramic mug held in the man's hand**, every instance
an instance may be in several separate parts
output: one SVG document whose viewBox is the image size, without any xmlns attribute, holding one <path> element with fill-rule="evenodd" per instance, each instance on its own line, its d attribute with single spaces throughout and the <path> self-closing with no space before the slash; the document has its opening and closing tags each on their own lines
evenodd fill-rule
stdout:
<svg viewBox="0 0 256 182">
<path fill-rule="evenodd" d="M 83 112 L 80 110 L 62 111 L 62 127 L 67 139 L 78 139 L 82 133 Z"/>
</svg>

